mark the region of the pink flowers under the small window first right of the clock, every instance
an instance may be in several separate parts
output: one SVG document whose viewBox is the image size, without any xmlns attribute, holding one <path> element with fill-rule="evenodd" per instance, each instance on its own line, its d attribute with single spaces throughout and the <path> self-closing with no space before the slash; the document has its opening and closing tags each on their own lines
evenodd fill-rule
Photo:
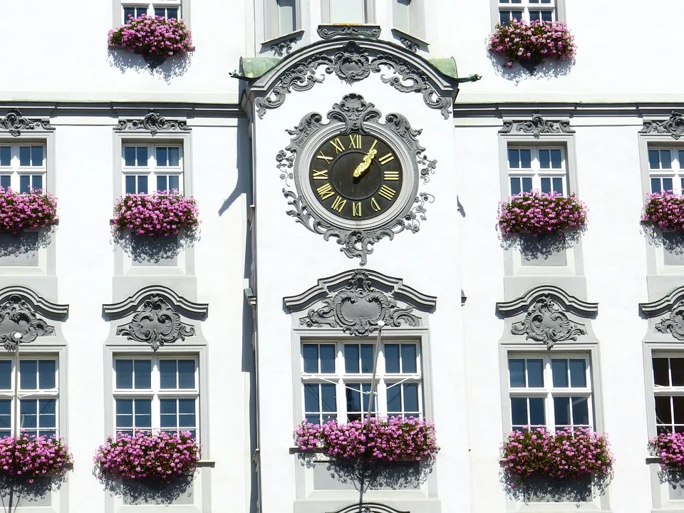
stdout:
<svg viewBox="0 0 684 513">
<path fill-rule="evenodd" d="M 582 229 L 586 225 L 586 205 L 575 197 L 557 192 L 532 190 L 499 203 L 499 230 L 502 237 L 517 234 L 554 234 Z"/>
</svg>

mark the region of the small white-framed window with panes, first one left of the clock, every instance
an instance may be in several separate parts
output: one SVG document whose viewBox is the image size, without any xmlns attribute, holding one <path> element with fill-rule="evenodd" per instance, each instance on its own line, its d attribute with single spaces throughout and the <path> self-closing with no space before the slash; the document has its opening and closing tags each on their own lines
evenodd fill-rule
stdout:
<svg viewBox="0 0 684 513">
<path fill-rule="evenodd" d="M 121 158 L 125 194 L 183 192 L 182 146 L 125 144 Z"/>
</svg>

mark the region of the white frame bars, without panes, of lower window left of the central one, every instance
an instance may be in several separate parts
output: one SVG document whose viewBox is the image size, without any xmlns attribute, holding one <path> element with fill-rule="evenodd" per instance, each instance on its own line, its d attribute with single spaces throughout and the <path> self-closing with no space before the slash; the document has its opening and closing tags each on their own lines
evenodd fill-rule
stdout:
<svg viewBox="0 0 684 513">
<path fill-rule="evenodd" d="M 118 360 L 133 360 L 133 361 L 151 361 L 151 376 L 150 376 L 150 388 L 140 389 L 135 388 L 135 381 L 133 382 L 134 388 L 116 388 L 116 361 Z M 160 385 L 160 370 L 159 363 L 163 360 L 192 360 L 195 361 L 195 388 L 161 388 Z M 135 365 L 135 364 L 134 364 Z M 135 371 L 134 371 L 135 373 Z M 135 374 L 134 374 L 135 379 Z M 118 432 L 116 426 L 116 401 L 118 399 L 150 399 L 152 402 L 151 406 L 151 426 L 152 432 L 160 432 L 162 430 L 167 431 L 167 428 L 161 427 L 161 413 L 160 413 L 160 400 L 161 399 L 195 399 L 195 438 L 200 440 L 200 430 L 202 429 L 202 422 L 200 418 L 200 408 L 199 408 L 199 388 L 200 388 L 200 375 L 199 375 L 199 356 L 195 353 L 175 353 L 173 355 L 165 356 L 150 356 L 149 354 L 140 353 L 114 353 L 112 358 L 112 408 L 113 408 L 113 425 L 111 426 L 112 433 Z M 135 411 L 134 411 L 135 414 Z M 178 415 L 178 411 L 176 413 Z M 133 432 L 149 432 L 147 429 L 135 429 L 135 417 L 133 418 L 134 427 L 130 430 Z M 183 428 L 178 428 L 178 430 L 183 430 Z M 126 428 L 121 428 L 121 431 L 129 431 Z"/>
</svg>

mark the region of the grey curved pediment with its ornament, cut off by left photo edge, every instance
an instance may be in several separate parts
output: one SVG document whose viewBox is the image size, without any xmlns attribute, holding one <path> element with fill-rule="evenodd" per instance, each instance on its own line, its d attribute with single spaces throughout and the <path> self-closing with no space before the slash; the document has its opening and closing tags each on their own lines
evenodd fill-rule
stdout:
<svg viewBox="0 0 684 513">
<path fill-rule="evenodd" d="M 61 320 L 68 311 L 68 305 L 47 301 L 26 287 L 6 287 L 0 290 L 0 343 L 6 350 L 14 351 L 17 343 L 31 343 L 38 337 L 54 336 L 55 327 L 43 316 Z M 20 333 L 21 338 L 17 338 L 15 333 Z"/>
</svg>

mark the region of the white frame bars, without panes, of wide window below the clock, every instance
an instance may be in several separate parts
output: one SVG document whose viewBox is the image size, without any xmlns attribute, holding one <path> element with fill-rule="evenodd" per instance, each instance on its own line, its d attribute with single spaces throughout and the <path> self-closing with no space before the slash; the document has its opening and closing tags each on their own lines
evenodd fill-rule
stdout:
<svg viewBox="0 0 684 513">
<path fill-rule="evenodd" d="M 412 344 L 416 348 L 416 372 L 415 373 L 385 373 L 385 356 L 384 356 L 384 346 L 386 344 Z M 318 344 L 321 345 L 333 345 L 335 346 L 335 372 L 334 373 L 305 373 L 304 372 L 304 345 L 306 344 Z M 346 344 L 363 344 L 369 345 L 375 348 L 374 341 L 347 338 L 347 339 L 308 339 L 302 338 L 299 348 L 299 363 L 301 368 L 301 385 L 300 385 L 300 400 L 301 400 L 301 417 L 305 418 L 306 406 L 304 398 L 304 385 L 305 384 L 321 384 L 321 383 L 331 383 L 336 387 L 336 417 L 338 422 L 346 423 L 348 418 L 347 404 L 346 404 L 346 385 L 347 384 L 371 384 L 372 371 L 370 373 L 346 373 L 345 371 L 345 358 L 344 358 L 344 346 Z M 320 355 L 320 353 L 319 353 Z M 319 356 L 320 358 L 320 356 Z M 359 368 L 361 371 L 361 368 Z M 420 347 L 420 341 L 410 338 L 402 338 L 400 340 L 383 340 L 382 347 L 378 353 L 378 370 L 376 373 L 376 388 L 375 388 L 375 405 L 373 408 L 373 415 L 378 415 L 380 417 L 385 417 L 388 415 L 387 408 L 387 398 L 388 390 L 393 387 L 393 385 L 399 385 L 403 383 L 416 383 L 418 384 L 418 416 L 423 418 L 425 416 L 425 399 L 424 385 L 423 385 L 423 353 Z M 320 400 L 320 396 L 319 396 Z M 403 398 L 401 400 L 402 410 L 404 408 Z M 363 408 L 363 398 L 361 399 L 362 410 Z M 366 408 L 368 408 L 366 406 Z M 353 412 L 356 415 L 358 412 Z M 361 420 L 366 419 L 366 411 L 361 412 Z M 309 413 L 313 415 L 314 412 Z M 402 416 L 411 416 L 410 413 L 405 413 L 402 411 Z M 324 417 L 323 413 L 321 416 Z M 321 422 L 325 423 L 326 418 L 321 418 Z"/>
</svg>

